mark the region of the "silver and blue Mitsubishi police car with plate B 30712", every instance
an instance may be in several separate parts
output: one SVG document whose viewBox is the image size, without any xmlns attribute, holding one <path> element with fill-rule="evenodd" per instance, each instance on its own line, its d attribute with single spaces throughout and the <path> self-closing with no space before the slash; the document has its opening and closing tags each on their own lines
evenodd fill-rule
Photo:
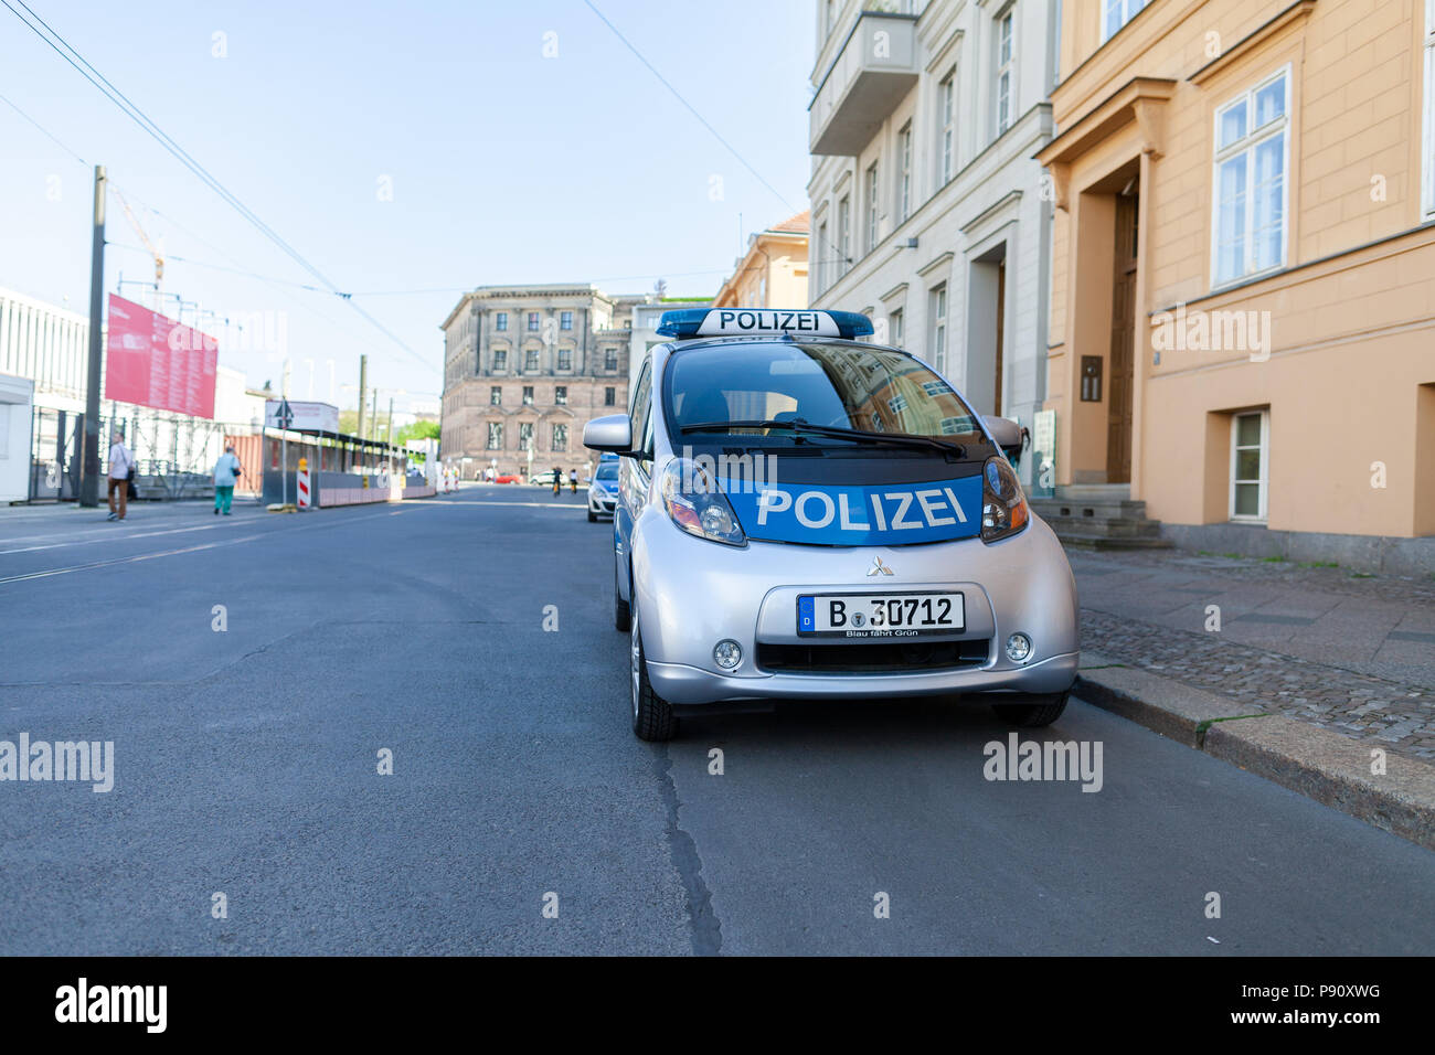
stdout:
<svg viewBox="0 0 1435 1055">
<path fill-rule="evenodd" d="M 1076 587 L 1007 455 L 923 360 L 858 342 L 851 311 L 667 311 L 621 455 L 614 624 L 633 731 L 779 699 L 949 696 L 1056 721 L 1076 677 Z M 1006 454 L 1003 454 L 1006 451 Z"/>
</svg>

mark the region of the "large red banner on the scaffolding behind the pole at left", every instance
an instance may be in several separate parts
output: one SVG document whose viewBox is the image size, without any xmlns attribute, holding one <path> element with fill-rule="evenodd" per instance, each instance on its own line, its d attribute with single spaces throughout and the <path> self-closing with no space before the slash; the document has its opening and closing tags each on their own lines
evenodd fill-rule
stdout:
<svg viewBox="0 0 1435 1055">
<path fill-rule="evenodd" d="M 105 399 L 214 418 L 218 342 L 109 294 Z"/>
</svg>

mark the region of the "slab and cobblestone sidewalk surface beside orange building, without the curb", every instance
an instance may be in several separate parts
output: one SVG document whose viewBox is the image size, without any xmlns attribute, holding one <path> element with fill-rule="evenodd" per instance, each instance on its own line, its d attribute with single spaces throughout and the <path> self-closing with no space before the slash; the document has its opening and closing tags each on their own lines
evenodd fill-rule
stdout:
<svg viewBox="0 0 1435 1055">
<path fill-rule="evenodd" d="M 1085 652 L 1435 761 L 1435 583 L 1180 553 L 1071 558 Z"/>
</svg>

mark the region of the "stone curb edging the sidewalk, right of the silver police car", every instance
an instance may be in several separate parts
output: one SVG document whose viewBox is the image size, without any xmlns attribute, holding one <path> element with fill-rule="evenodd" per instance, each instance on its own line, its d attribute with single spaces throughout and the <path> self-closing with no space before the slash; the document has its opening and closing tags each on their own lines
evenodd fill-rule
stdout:
<svg viewBox="0 0 1435 1055">
<path fill-rule="evenodd" d="M 1101 662 L 1083 655 L 1073 695 L 1435 850 L 1435 765 L 1386 751 L 1386 772 L 1372 775 L 1370 752 L 1379 744 L 1281 715 L 1253 715 L 1215 693 L 1149 670 Z"/>
</svg>

